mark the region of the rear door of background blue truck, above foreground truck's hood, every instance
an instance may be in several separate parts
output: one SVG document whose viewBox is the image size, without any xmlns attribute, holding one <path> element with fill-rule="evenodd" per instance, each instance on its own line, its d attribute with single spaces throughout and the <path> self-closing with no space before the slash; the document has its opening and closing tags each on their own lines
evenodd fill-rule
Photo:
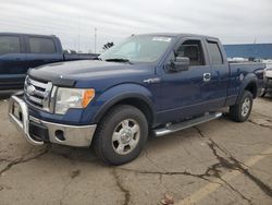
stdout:
<svg viewBox="0 0 272 205">
<path fill-rule="evenodd" d="M 63 55 L 54 38 L 46 36 L 26 36 L 25 41 L 29 68 L 63 60 Z"/>
</svg>

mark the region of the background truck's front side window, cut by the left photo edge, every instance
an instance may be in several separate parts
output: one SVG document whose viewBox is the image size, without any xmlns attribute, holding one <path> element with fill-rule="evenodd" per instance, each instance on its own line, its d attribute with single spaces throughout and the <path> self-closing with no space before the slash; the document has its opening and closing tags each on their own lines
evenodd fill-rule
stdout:
<svg viewBox="0 0 272 205">
<path fill-rule="evenodd" d="M 16 36 L 0 36 L 0 55 L 20 53 L 20 39 Z"/>
</svg>

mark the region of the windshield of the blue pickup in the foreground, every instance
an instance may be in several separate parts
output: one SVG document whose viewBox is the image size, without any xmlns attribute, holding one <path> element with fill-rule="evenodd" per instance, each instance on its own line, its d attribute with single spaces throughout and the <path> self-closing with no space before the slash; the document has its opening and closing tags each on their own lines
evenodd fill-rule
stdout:
<svg viewBox="0 0 272 205">
<path fill-rule="evenodd" d="M 154 62 L 170 46 L 173 37 L 132 36 L 99 56 L 101 60 Z"/>
</svg>

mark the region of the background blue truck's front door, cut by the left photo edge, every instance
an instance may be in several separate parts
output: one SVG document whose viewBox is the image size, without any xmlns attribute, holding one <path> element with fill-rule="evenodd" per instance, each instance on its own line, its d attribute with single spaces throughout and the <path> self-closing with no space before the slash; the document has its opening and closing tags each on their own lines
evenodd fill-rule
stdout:
<svg viewBox="0 0 272 205">
<path fill-rule="evenodd" d="M 27 57 L 21 35 L 0 35 L 0 89 L 23 87 Z"/>
</svg>

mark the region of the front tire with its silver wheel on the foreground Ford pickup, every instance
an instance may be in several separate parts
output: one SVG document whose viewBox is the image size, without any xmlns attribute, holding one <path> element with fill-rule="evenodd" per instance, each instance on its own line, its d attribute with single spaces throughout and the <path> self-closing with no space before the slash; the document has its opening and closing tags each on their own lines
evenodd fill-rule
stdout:
<svg viewBox="0 0 272 205">
<path fill-rule="evenodd" d="M 148 137 L 145 114 L 128 105 L 111 109 L 98 124 L 94 148 L 100 159 L 111 165 L 122 165 L 135 159 Z"/>
</svg>

